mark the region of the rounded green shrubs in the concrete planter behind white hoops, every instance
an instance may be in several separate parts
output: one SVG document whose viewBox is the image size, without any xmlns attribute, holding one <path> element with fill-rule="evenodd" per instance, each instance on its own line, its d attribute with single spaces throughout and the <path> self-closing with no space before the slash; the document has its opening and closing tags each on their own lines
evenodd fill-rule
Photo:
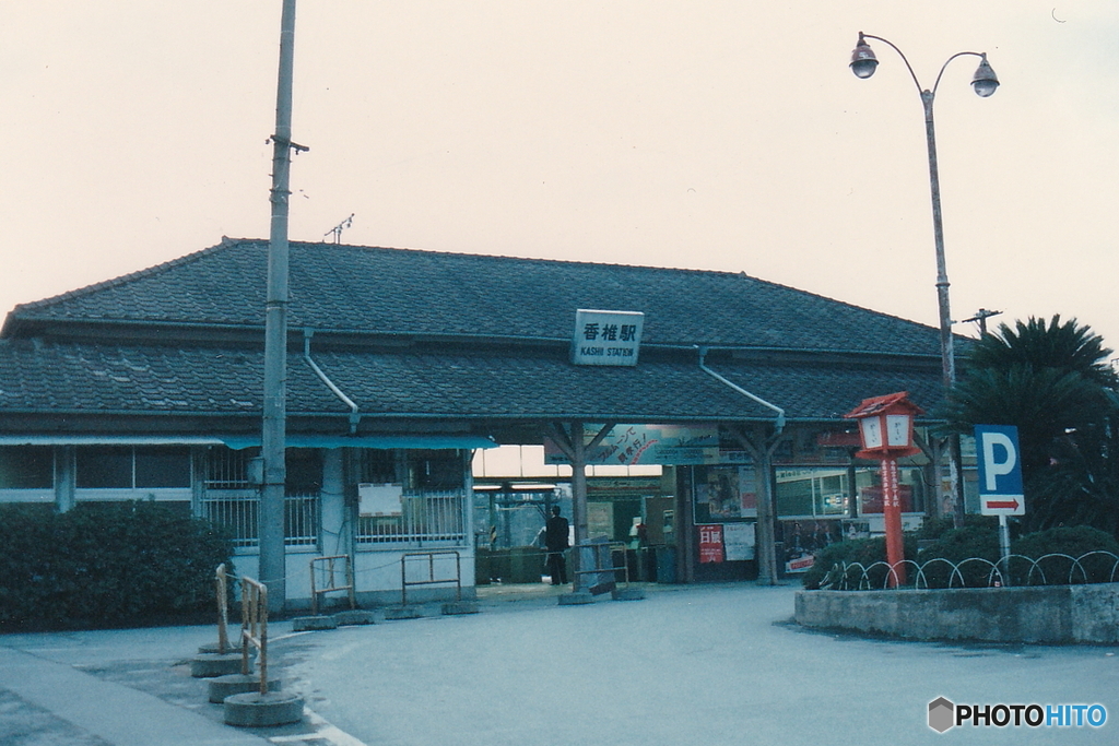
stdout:
<svg viewBox="0 0 1119 746">
<path fill-rule="evenodd" d="M 915 558 L 922 566 L 929 587 L 948 587 L 952 567 L 959 568 L 963 584 L 970 587 L 986 586 L 991 574 L 988 563 L 997 563 L 1002 557 L 998 542 L 998 523 L 994 520 L 976 518 L 972 522 L 959 529 L 941 532 L 938 527 L 932 535 L 937 538 L 921 541 L 920 553 L 918 540 L 930 532 L 905 535 L 905 557 Z M 1106 531 L 1088 526 L 1052 528 L 1045 531 L 1027 533 L 1012 540 L 1009 563 L 1010 583 L 1014 585 L 1037 585 L 1041 583 L 1106 583 L 1119 580 L 1112 577 L 1116 560 L 1106 555 L 1094 555 L 1074 565 L 1073 559 L 1084 557 L 1090 553 L 1111 553 L 1119 556 L 1119 542 Z M 1021 559 L 1014 555 L 1028 557 Z M 1060 555 L 1060 556 L 1047 556 Z M 970 558 L 986 561 L 966 563 Z M 824 576 L 836 565 L 861 564 L 869 568 L 875 563 L 885 561 L 886 542 L 884 538 L 855 539 L 834 544 L 816 556 L 815 565 L 805 574 L 802 582 L 806 588 L 818 588 Z M 934 561 L 944 559 L 944 563 Z M 1034 561 L 1029 561 L 1034 560 Z M 949 564 L 951 563 L 951 564 Z M 962 563 L 962 565 L 961 565 Z M 912 582 L 912 567 L 908 570 Z M 859 576 L 862 573 L 859 573 Z M 881 588 L 885 585 L 886 568 L 880 566 L 868 574 L 871 587 Z M 955 585 L 960 580 L 956 578 Z"/>
</svg>

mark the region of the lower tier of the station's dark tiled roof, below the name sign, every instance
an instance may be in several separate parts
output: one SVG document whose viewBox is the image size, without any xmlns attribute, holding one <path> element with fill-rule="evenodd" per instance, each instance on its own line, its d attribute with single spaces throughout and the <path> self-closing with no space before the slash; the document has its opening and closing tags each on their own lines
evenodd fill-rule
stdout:
<svg viewBox="0 0 1119 746">
<path fill-rule="evenodd" d="M 323 351 L 316 362 L 379 418 L 587 418 L 621 422 L 772 419 L 773 412 L 708 376 L 698 360 L 632 368 L 572 366 L 556 352 L 435 355 Z M 852 366 L 708 361 L 790 419 L 834 419 L 869 394 L 909 389 L 922 406 L 939 372 Z M 0 341 L 0 414 L 231 415 L 261 410 L 260 352 Z M 291 416 L 349 413 L 301 356 L 289 358 Z"/>
</svg>

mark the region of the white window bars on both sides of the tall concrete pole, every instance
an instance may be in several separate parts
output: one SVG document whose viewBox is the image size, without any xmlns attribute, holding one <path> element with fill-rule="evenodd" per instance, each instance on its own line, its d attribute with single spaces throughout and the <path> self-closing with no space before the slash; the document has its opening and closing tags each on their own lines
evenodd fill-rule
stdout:
<svg viewBox="0 0 1119 746">
<path fill-rule="evenodd" d="M 260 546 L 260 491 L 253 489 L 207 489 L 201 500 L 203 517 L 225 528 L 238 549 Z M 284 499 L 284 546 L 316 547 L 319 542 L 319 495 L 288 495 Z"/>
</svg>

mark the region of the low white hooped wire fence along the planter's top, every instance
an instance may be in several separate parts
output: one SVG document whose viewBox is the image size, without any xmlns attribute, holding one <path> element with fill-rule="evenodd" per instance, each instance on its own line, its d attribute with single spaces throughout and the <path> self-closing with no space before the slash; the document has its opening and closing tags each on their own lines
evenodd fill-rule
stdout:
<svg viewBox="0 0 1119 746">
<path fill-rule="evenodd" d="M 1068 563 L 1068 574 L 1056 573 Z M 1110 551 L 1089 551 L 1073 557 L 1049 554 L 1036 559 L 1025 555 L 1010 555 L 997 561 L 982 557 L 968 557 L 958 563 L 935 557 L 925 563 L 906 559 L 896 565 L 876 561 L 841 563 L 831 567 L 820 580 L 825 591 L 869 591 L 885 588 L 891 576 L 896 582 L 897 567 L 905 566 L 913 577 L 914 588 L 975 588 L 1007 585 L 1057 585 L 1076 583 L 1115 583 L 1119 578 L 1119 556 Z M 1046 567 L 1050 573 L 1046 574 Z M 914 572 L 909 573 L 912 568 Z"/>
</svg>

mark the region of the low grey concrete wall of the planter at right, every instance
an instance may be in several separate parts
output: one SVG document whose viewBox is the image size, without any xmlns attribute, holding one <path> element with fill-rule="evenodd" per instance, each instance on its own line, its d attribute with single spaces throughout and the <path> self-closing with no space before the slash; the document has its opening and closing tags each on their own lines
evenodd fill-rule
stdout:
<svg viewBox="0 0 1119 746">
<path fill-rule="evenodd" d="M 1119 583 L 937 591 L 800 591 L 798 624 L 915 640 L 1119 643 Z"/>
</svg>

